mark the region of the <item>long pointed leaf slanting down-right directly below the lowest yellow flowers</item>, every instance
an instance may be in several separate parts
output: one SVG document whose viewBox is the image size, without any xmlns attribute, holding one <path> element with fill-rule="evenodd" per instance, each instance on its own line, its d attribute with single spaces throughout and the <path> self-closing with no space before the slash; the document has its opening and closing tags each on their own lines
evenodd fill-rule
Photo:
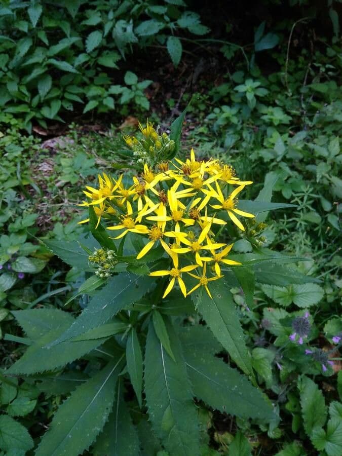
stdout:
<svg viewBox="0 0 342 456">
<path fill-rule="evenodd" d="M 209 288 L 212 299 L 204 287 L 191 294 L 195 306 L 232 359 L 246 374 L 253 376 L 251 355 L 245 344 L 232 294 L 222 279 L 210 282 Z"/>
</svg>

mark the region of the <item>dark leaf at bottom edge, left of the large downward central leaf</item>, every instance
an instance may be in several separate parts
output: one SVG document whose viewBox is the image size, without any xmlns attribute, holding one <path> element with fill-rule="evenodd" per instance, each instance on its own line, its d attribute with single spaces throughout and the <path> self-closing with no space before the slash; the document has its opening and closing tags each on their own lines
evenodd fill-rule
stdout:
<svg viewBox="0 0 342 456">
<path fill-rule="evenodd" d="M 113 411 L 98 436 L 94 456 L 128 456 L 140 454 L 139 439 L 135 426 L 124 401 L 122 381 L 117 384 L 116 402 Z"/>
</svg>

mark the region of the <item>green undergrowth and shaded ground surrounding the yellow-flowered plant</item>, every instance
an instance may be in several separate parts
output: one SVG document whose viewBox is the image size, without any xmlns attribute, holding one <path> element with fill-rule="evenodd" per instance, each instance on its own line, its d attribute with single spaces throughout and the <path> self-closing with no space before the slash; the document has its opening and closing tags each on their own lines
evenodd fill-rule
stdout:
<svg viewBox="0 0 342 456">
<path fill-rule="evenodd" d="M 281 421 L 265 427 L 199 403 L 202 454 L 340 454 L 340 11 L 333 0 L 2 2 L 0 454 L 33 454 L 72 389 L 55 371 L 4 375 L 30 344 L 16 311 L 78 313 L 88 302 L 74 296 L 85 275 L 46 245 L 85 230 L 80 188 L 120 162 L 123 133 L 147 116 L 167 131 L 190 100 L 184 153 L 195 144 L 202 158 L 231 163 L 255 182 L 249 199 L 267 183 L 263 199 L 296 204 L 260 217 L 258 242 L 306 259 L 293 283 L 256 272 L 254 298 L 232 286 Z M 234 250 L 252 250 L 248 232 Z M 310 282 L 298 284 L 300 273 Z M 289 336 L 303 308 L 300 345 Z M 130 412 L 138 421 L 133 403 Z M 167 454 L 148 445 L 142 454 Z"/>
</svg>

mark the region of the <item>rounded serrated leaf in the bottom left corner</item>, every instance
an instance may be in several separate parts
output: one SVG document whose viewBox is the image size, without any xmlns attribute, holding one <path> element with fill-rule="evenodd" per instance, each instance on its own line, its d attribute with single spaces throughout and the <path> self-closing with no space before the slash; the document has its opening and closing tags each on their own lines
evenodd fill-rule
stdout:
<svg viewBox="0 0 342 456">
<path fill-rule="evenodd" d="M 0 448 L 6 452 L 17 449 L 28 451 L 33 447 L 33 440 L 23 425 L 13 420 L 11 416 L 0 416 Z"/>
</svg>

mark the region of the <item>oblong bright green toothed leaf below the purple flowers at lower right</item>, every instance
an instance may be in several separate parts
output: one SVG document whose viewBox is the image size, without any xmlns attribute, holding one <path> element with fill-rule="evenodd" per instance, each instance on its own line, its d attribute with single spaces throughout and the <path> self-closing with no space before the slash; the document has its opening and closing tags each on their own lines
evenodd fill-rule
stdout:
<svg viewBox="0 0 342 456">
<path fill-rule="evenodd" d="M 303 375 L 298 381 L 300 407 L 304 428 L 309 435 L 325 424 L 327 408 L 322 392 L 311 378 Z"/>
</svg>

